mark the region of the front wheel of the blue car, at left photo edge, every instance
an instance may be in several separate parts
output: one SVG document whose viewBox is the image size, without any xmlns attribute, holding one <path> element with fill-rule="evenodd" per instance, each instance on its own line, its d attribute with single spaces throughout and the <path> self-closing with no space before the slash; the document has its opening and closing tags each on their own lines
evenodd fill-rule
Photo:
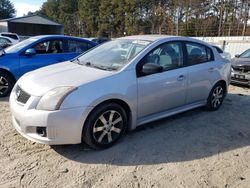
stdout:
<svg viewBox="0 0 250 188">
<path fill-rule="evenodd" d="M 15 82 L 8 73 L 0 71 L 0 98 L 10 94 Z"/>
</svg>

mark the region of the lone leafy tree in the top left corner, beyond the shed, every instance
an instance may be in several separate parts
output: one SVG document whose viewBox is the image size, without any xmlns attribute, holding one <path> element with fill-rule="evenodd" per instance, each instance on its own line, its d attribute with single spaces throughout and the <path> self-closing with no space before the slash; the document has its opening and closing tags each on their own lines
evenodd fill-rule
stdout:
<svg viewBox="0 0 250 188">
<path fill-rule="evenodd" d="M 0 19 L 12 18 L 16 14 L 13 3 L 9 0 L 0 0 Z"/>
</svg>

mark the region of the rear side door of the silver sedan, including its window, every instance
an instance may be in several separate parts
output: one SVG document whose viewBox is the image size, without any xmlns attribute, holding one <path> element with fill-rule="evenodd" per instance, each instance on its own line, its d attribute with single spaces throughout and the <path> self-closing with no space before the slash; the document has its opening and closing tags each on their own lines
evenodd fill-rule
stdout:
<svg viewBox="0 0 250 188">
<path fill-rule="evenodd" d="M 187 104 L 207 100 L 217 77 L 213 51 L 195 42 L 186 42 L 185 46 L 188 67 Z"/>
</svg>

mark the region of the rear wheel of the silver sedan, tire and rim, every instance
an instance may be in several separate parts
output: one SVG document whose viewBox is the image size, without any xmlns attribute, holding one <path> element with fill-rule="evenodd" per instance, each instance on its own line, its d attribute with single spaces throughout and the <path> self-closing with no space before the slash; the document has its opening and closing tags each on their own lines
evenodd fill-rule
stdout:
<svg viewBox="0 0 250 188">
<path fill-rule="evenodd" d="M 226 88 L 224 87 L 224 85 L 220 82 L 215 84 L 207 99 L 206 109 L 209 111 L 218 110 L 224 101 L 225 95 Z"/>
</svg>

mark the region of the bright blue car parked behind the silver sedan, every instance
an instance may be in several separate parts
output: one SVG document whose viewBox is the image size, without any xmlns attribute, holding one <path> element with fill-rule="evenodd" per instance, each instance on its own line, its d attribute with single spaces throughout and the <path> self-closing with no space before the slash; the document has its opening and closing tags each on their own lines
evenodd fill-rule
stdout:
<svg viewBox="0 0 250 188">
<path fill-rule="evenodd" d="M 96 43 L 70 36 L 36 36 L 0 51 L 0 97 L 35 69 L 75 58 Z"/>
</svg>

